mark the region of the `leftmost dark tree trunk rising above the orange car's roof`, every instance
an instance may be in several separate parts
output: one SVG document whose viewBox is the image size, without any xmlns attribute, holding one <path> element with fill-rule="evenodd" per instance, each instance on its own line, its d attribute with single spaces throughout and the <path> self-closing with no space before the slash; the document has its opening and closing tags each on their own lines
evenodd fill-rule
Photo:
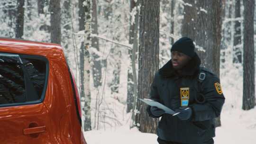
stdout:
<svg viewBox="0 0 256 144">
<path fill-rule="evenodd" d="M 17 0 L 17 18 L 16 18 L 16 29 L 15 37 L 22 38 L 24 31 L 24 4 L 25 0 Z"/>
</svg>

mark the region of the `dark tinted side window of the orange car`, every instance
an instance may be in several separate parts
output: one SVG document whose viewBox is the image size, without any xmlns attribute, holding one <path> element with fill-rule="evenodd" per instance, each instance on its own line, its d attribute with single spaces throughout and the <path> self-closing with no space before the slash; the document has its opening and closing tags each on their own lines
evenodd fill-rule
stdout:
<svg viewBox="0 0 256 144">
<path fill-rule="evenodd" d="M 42 99 L 46 63 L 40 56 L 0 53 L 0 107 Z"/>
</svg>

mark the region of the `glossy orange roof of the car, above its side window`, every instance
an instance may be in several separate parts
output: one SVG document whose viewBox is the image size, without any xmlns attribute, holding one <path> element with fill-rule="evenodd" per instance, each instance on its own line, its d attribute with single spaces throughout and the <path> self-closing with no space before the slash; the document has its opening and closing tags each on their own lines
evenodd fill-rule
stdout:
<svg viewBox="0 0 256 144">
<path fill-rule="evenodd" d="M 46 56 L 50 52 L 62 52 L 61 45 L 0 37 L 0 51 L 6 53 Z"/>
</svg>

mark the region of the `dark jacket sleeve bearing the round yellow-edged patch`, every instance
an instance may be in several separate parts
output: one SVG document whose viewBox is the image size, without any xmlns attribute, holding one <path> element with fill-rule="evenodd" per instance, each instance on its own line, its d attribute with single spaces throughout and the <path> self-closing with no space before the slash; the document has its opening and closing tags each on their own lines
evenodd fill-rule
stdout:
<svg viewBox="0 0 256 144">
<path fill-rule="evenodd" d="M 205 103 L 194 103 L 189 106 L 193 110 L 192 121 L 205 121 L 219 117 L 225 102 L 217 76 L 208 74 L 208 78 L 202 82 L 201 87 Z"/>
</svg>

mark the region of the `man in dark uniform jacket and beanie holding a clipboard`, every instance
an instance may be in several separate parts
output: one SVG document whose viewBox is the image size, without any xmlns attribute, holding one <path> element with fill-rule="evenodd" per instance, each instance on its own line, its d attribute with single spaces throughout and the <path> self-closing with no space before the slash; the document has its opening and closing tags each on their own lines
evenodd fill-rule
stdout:
<svg viewBox="0 0 256 144">
<path fill-rule="evenodd" d="M 157 127 L 159 144 L 214 144 L 215 126 L 225 98 L 219 78 L 201 68 L 192 39 L 180 38 L 171 48 L 172 59 L 155 73 L 151 99 L 179 114 L 148 107 L 150 117 L 162 117 Z"/>
</svg>

